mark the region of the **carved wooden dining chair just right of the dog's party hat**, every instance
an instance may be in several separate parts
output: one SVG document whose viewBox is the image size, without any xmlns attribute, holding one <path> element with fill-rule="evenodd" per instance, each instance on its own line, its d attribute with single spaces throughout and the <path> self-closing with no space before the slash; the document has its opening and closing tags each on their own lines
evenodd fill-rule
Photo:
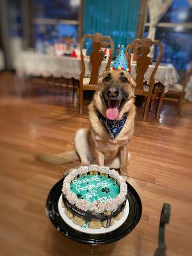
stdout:
<svg viewBox="0 0 192 256">
<path fill-rule="evenodd" d="M 137 41 L 136 41 L 137 40 Z M 135 88 L 135 95 L 142 95 L 145 97 L 145 106 L 143 110 L 143 120 L 145 121 L 148 113 L 148 106 L 150 104 L 150 99 L 152 97 L 152 92 L 154 90 L 155 84 L 155 75 L 157 72 L 157 68 L 163 56 L 163 45 L 159 40 L 150 40 L 149 38 L 143 38 L 141 40 L 136 39 L 134 40 L 127 49 L 127 61 L 128 61 L 128 68 L 131 68 L 131 52 L 133 51 L 133 46 L 138 44 L 138 56 L 136 58 L 136 88 Z M 149 83 L 144 83 L 144 75 L 147 72 L 149 65 L 152 64 L 152 58 L 148 56 L 150 52 L 150 47 L 152 45 L 157 45 L 159 47 L 159 54 L 157 57 L 157 61 L 155 65 L 152 65 L 152 72 L 150 77 L 148 77 Z"/>
</svg>

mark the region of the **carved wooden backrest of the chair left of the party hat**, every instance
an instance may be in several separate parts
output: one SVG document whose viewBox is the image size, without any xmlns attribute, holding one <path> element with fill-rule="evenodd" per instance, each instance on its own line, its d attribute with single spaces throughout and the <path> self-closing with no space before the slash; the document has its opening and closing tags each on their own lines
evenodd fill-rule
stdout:
<svg viewBox="0 0 192 256">
<path fill-rule="evenodd" d="M 93 51 L 90 53 L 90 64 L 92 66 L 92 72 L 89 84 L 97 85 L 97 80 L 99 76 L 99 67 L 104 58 L 102 52 L 100 52 L 101 47 L 106 47 L 111 45 L 111 54 L 109 56 L 108 62 L 106 63 L 106 70 L 108 70 L 111 60 L 113 58 L 114 44 L 110 36 L 102 36 L 100 33 L 95 33 L 94 35 L 87 34 L 81 39 L 81 67 L 82 72 L 80 75 L 80 83 L 83 83 L 83 77 L 85 74 L 84 65 L 84 55 L 83 55 L 83 45 L 86 38 L 92 38 L 93 41 Z"/>
</svg>

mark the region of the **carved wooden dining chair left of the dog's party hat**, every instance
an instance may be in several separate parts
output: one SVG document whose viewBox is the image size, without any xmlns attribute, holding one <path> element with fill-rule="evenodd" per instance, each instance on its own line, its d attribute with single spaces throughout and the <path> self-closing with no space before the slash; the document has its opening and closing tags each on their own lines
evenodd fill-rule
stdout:
<svg viewBox="0 0 192 256">
<path fill-rule="evenodd" d="M 84 41 L 87 38 L 92 38 L 92 42 L 93 42 L 93 51 L 90 52 L 90 65 L 92 68 L 90 78 L 84 77 L 86 70 L 85 70 L 85 63 L 84 63 L 83 46 L 84 46 Z M 79 88 L 77 88 L 77 92 L 79 95 L 80 114 L 82 114 L 82 109 L 83 109 L 83 92 L 86 90 L 93 90 L 93 91 L 97 90 L 99 67 L 104 58 L 104 55 L 102 54 L 102 52 L 100 52 L 100 48 L 104 47 L 106 45 L 109 45 L 109 44 L 111 45 L 111 53 L 109 55 L 108 62 L 106 61 L 105 70 L 108 70 L 111 60 L 112 60 L 112 57 L 113 57 L 114 44 L 113 44 L 112 38 L 110 36 L 102 36 L 100 33 L 95 33 L 93 35 L 91 35 L 91 34 L 84 35 L 83 38 L 81 39 L 81 68 L 82 68 L 82 70 L 81 70 L 81 75 L 80 75 Z"/>
</svg>

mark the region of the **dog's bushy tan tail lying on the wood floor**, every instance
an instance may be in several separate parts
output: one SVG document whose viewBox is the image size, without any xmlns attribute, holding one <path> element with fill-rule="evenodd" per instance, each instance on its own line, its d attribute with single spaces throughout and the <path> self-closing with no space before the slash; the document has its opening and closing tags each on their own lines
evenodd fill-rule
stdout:
<svg viewBox="0 0 192 256">
<path fill-rule="evenodd" d="M 61 154 L 56 154 L 56 155 L 44 154 L 44 155 L 37 156 L 36 159 L 44 163 L 57 164 L 57 165 L 67 164 L 73 161 L 80 161 L 79 155 L 75 150 L 63 152 Z"/>
</svg>

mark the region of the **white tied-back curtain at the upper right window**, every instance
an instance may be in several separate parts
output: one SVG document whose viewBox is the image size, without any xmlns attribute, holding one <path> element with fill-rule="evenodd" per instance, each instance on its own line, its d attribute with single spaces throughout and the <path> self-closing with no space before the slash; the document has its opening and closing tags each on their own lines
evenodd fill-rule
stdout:
<svg viewBox="0 0 192 256">
<path fill-rule="evenodd" d="M 151 40 L 155 39 L 156 26 L 164 13 L 167 12 L 172 2 L 173 0 L 148 0 L 148 13 L 150 18 L 148 38 Z"/>
</svg>

